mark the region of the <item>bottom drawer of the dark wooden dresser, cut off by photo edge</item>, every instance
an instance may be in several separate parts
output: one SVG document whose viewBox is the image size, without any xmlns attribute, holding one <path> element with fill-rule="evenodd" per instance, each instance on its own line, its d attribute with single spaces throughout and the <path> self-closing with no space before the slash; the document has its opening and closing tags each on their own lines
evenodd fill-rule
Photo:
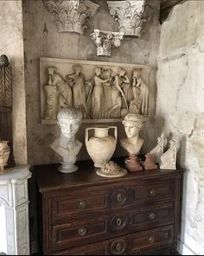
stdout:
<svg viewBox="0 0 204 256">
<path fill-rule="evenodd" d="M 143 253 L 173 244 L 173 226 L 150 229 L 145 232 L 102 240 L 86 246 L 78 246 L 55 255 L 130 255 Z"/>
</svg>

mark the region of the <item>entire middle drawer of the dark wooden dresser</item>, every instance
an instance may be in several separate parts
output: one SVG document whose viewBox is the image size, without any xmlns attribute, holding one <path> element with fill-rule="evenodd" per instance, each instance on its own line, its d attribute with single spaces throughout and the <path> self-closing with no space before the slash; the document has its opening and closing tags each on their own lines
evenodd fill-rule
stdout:
<svg viewBox="0 0 204 256">
<path fill-rule="evenodd" d="M 152 207 L 131 208 L 115 214 L 92 214 L 84 218 L 69 218 L 52 229 L 53 251 L 88 244 L 118 235 L 161 227 L 174 221 L 173 203 Z"/>
</svg>

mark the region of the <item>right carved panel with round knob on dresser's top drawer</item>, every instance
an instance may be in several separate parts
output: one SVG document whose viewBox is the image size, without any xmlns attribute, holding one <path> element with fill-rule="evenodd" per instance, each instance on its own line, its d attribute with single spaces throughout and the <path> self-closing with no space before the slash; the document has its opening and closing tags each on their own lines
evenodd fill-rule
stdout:
<svg viewBox="0 0 204 256">
<path fill-rule="evenodd" d="M 143 182 L 143 186 L 133 188 L 133 202 L 173 200 L 175 190 L 175 180 L 170 179 L 163 182 Z"/>
</svg>

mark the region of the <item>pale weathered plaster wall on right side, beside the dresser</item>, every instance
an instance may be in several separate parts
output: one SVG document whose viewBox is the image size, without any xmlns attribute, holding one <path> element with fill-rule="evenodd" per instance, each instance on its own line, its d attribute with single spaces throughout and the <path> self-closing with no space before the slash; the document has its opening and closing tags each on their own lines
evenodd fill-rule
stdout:
<svg viewBox="0 0 204 256">
<path fill-rule="evenodd" d="M 204 2 L 175 6 L 161 28 L 157 120 L 181 139 L 183 254 L 204 253 Z"/>
</svg>

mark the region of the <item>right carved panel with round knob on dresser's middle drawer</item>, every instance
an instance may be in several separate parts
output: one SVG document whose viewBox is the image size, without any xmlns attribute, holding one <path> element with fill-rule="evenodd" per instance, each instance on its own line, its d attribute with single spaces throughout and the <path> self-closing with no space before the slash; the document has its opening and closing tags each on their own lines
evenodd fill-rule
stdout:
<svg viewBox="0 0 204 256">
<path fill-rule="evenodd" d="M 136 211 L 131 212 L 131 221 L 134 230 L 171 224 L 174 221 L 174 203 L 137 208 Z"/>
</svg>

